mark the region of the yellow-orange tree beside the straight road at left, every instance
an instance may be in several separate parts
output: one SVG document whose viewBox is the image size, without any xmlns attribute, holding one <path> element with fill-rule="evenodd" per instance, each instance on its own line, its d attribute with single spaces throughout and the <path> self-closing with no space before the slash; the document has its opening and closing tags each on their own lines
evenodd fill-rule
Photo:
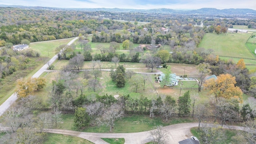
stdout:
<svg viewBox="0 0 256 144">
<path fill-rule="evenodd" d="M 29 96 L 33 94 L 35 90 L 37 90 L 37 84 L 34 78 L 29 78 L 28 80 L 21 78 L 17 81 L 17 84 L 18 84 L 17 95 L 20 97 Z"/>
</svg>

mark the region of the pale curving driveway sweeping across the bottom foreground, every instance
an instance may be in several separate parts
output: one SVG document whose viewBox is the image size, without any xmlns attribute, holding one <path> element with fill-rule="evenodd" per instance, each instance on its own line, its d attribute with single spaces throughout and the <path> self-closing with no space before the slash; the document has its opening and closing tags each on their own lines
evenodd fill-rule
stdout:
<svg viewBox="0 0 256 144">
<path fill-rule="evenodd" d="M 166 143 L 178 144 L 179 141 L 190 138 L 190 128 L 198 126 L 198 123 L 184 123 L 184 124 L 173 124 L 165 126 L 164 129 L 168 131 L 169 139 Z M 58 129 L 45 129 L 45 132 L 66 134 L 70 136 L 77 136 L 90 140 L 95 144 L 108 144 L 100 138 L 124 138 L 125 144 L 145 144 L 152 141 L 150 138 L 149 131 L 147 132 L 134 132 L 134 133 L 92 133 L 92 132 L 76 132 L 72 130 L 58 130 Z"/>
</svg>

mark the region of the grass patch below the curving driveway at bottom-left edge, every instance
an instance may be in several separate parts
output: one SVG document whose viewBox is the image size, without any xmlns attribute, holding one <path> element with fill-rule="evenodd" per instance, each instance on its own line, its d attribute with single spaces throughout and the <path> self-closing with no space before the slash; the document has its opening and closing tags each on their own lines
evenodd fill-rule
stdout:
<svg viewBox="0 0 256 144">
<path fill-rule="evenodd" d="M 89 140 L 63 134 L 47 133 L 43 144 L 94 144 Z"/>
</svg>

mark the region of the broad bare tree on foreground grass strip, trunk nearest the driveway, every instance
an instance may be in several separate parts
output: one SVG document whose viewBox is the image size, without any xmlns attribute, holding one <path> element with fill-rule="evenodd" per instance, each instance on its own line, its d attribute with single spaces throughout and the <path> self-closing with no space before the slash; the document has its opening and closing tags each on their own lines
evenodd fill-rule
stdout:
<svg viewBox="0 0 256 144">
<path fill-rule="evenodd" d="M 115 120 L 121 118 L 123 114 L 124 111 L 122 110 L 121 106 L 118 104 L 113 104 L 104 112 L 102 120 L 99 121 L 99 124 L 110 126 L 110 132 L 112 132 Z"/>
</svg>

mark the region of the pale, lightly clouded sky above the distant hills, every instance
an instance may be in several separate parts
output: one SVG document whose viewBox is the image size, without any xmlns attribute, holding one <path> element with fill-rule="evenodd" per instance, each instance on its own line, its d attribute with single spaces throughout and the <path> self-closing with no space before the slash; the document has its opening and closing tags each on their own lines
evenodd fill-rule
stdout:
<svg viewBox="0 0 256 144">
<path fill-rule="evenodd" d="M 0 4 L 56 8 L 200 9 L 250 8 L 255 0 L 0 0 Z"/>
</svg>

